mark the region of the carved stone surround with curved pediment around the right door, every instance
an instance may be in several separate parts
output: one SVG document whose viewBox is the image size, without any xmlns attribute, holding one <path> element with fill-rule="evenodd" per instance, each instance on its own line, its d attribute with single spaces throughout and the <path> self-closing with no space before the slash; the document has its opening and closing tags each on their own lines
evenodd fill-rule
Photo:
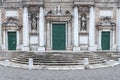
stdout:
<svg viewBox="0 0 120 80">
<path fill-rule="evenodd" d="M 104 17 L 101 19 L 100 22 L 96 25 L 97 28 L 97 34 L 98 34 L 98 40 L 97 40 L 97 49 L 102 50 L 101 46 L 101 39 L 102 39 L 102 32 L 110 32 L 110 50 L 116 49 L 116 24 L 111 21 L 109 17 Z"/>
</svg>

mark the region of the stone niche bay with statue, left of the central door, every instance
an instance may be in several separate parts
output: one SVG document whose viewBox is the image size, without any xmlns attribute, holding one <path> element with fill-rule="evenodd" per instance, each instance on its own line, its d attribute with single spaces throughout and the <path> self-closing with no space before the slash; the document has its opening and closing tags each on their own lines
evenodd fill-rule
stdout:
<svg viewBox="0 0 120 80">
<path fill-rule="evenodd" d="M 39 6 L 29 5 L 29 26 L 30 26 L 30 50 L 37 50 L 38 47 L 38 15 Z"/>
</svg>

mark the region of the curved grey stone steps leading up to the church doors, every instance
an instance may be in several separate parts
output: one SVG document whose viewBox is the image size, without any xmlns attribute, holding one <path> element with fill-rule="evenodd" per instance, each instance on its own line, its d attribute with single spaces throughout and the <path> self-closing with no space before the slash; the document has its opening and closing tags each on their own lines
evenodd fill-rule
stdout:
<svg viewBox="0 0 120 80">
<path fill-rule="evenodd" d="M 43 52 L 24 53 L 12 58 L 14 63 L 28 64 L 29 58 L 33 58 L 34 65 L 82 65 L 84 58 L 88 58 L 90 64 L 104 63 L 105 59 L 96 53 L 89 52 Z"/>
</svg>

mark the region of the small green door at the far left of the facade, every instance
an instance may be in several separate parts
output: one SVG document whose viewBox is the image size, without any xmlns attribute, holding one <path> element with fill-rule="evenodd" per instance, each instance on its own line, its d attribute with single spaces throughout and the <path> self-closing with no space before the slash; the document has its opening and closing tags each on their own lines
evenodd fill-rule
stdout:
<svg viewBox="0 0 120 80">
<path fill-rule="evenodd" d="M 8 32 L 8 50 L 16 50 L 16 32 Z"/>
</svg>

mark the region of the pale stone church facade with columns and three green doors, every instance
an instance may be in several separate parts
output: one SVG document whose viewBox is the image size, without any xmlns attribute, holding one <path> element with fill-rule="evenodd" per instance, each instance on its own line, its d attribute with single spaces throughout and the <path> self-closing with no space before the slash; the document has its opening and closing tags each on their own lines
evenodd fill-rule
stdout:
<svg viewBox="0 0 120 80">
<path fill-rule="evenodd" d="M 0 46 L 15 51 L 120 51 L 120 1 L 1 0 Z"/>
</svg>

